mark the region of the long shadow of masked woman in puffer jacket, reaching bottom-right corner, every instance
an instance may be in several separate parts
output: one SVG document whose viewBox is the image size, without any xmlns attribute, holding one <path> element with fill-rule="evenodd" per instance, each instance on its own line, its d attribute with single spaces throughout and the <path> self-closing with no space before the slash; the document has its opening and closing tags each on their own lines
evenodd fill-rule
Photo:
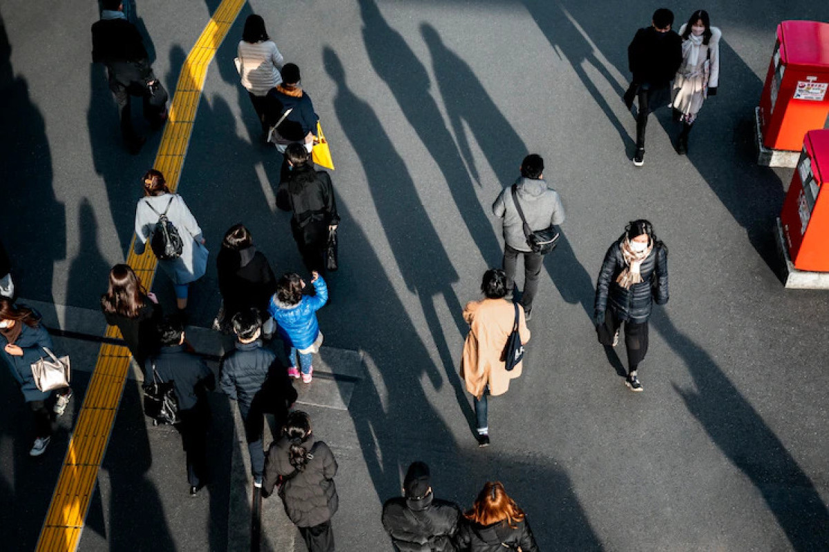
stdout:
<svg viewBox="0 0 829 552">
<path fill-rule="evenodd" d="M 829 546 L 829 509 L 809 476 L 710 354 L 683 334 L 661 309 L 656 329 L 686 363 L 696 389 L 674 385 L 710 439 L 757 487 L 794 550 Z"/>
</svg>

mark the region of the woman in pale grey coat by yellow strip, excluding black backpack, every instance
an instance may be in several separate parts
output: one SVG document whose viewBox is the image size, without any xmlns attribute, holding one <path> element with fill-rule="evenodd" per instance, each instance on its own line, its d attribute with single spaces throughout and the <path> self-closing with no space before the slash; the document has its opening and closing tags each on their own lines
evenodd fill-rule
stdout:
<svg viewBox="0 0 829 552">
<path fill-rule="evenodd" d="M 207 269 L 205 238 L 184 199 L 179 194 L 172 194 L 161 172 L 155 169 L 147 171 L 143 177 L 143 192 L 144 197 L 138 199 L 135 209 L 135 253 L 143 254 L 159 218 L 165 215 L 182 238 L 182 252 L 175 258 L 159 259 L 158 266 L 172 281 L 176 290 L 176 305 L 179 314 L 184 317 L 190 284 L 204 276 Z"/>
</svg>

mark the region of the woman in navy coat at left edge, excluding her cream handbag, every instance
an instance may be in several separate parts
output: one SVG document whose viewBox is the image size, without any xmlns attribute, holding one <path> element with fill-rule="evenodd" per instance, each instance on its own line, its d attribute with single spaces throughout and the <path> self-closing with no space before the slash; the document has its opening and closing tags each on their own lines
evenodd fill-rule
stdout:
<svg viewBox="0 0 829 552">
<path fill-rule="evenodd" d="M 46 408 L 51 391 L 40 391 L 32 374 L 32 364 L 47 356 L 43 348 L 52 349 L 52 341 L 41 315 L 22 305 L 15 305 L 7 297 L 0 297 L 0 353 L 9 372 L 23 393 L 23 399 L 32 409 L 35 442 L 29 454 L 40 456 L 46 451 L 52 434 L 52 417 Z M 55 394 L 52 411 L 60 416 L 72 397 L 72 389 L 64 387 Z"/>
</svg>

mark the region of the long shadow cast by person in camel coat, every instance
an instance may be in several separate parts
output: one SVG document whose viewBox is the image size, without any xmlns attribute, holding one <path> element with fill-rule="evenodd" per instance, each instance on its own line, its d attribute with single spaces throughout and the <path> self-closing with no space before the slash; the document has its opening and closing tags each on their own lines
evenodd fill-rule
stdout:
<svg viewBox="0 0 829 552">
<path fill-rule="evenodd" d="M 444 363 L 448 380 L 472 425 L 472 409 L 463 391 L 435 308 L 435 300 L 443 298 L 449 312 L 453 314 L 458 332 L 466 334 L 468 326 L 463 321 L 463 307 L 452 288 L 452 283 L 458 281 L 458 273 L 429 220 L 429 214 L 419 199 L 405 162 L 391 144 L 380 120 L 368 103 L 348 88 L 345 70 L 334 50 L 325 47 L 322 60 L 327 74 L 337 83 L 334 110 L 343 132 L 361 160 L 371 197 L 397 266 L 406 287 L 420 300 L 420 307 Z M 394 186 L 389 185 L 389 175 L 394 175 Z M 401 213 L 405 213 L 405 216 L 400 216 Z M 441 374 L 431 364 L 427 365 L 426 370 L 432 384 L 439 389 L 443 382 Z"/>
</svg>

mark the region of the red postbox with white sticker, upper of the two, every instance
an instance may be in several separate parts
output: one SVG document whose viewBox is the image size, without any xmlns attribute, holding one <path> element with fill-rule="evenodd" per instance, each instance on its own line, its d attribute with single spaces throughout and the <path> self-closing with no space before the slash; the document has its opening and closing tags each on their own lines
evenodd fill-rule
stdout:
<svg viewBox="0 0 829 552">
<path fill-rule="evenodd" d="M 760 96 L 763 145 L 798 151 L 829 114 L 829 23 L 784 21 Z"/>
</svg>

